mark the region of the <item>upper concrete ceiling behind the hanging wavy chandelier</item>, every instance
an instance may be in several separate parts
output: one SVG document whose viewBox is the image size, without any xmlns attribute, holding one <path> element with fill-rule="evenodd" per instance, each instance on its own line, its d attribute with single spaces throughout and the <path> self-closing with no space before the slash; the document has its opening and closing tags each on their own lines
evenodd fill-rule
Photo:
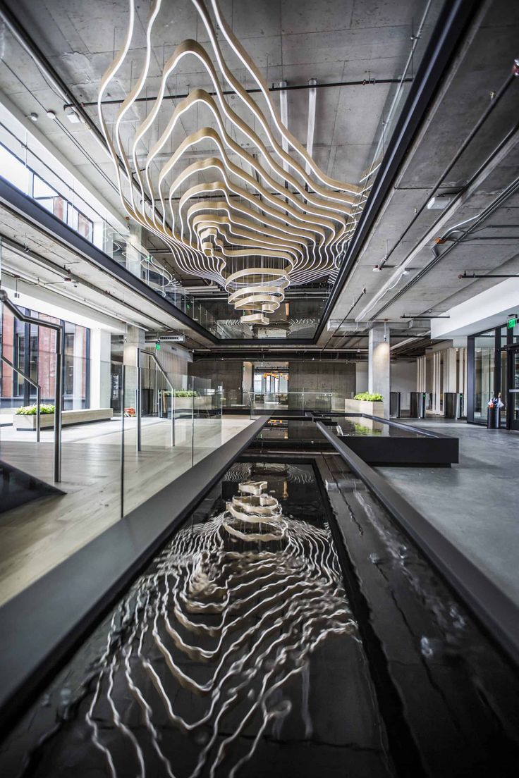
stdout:
<svg viewBox="0 0 519 778">
<path fill-rule="evenodd" d="M 100 79 L 121 45 L 128 23 L 127 0 L 8 0 L 6 5 L 37 40 L 44 56 L 61 75 L 73 95 L 82 103 L 95 103 Z M 426 23 L 416 47 L 413 66 L 419 63 L 442 5 L 441 0 L 223 0 L 223 14 L 233 27 L 248 54 L 265 75 L 269 84 L 285 80 L 289 86 L 317 82 L 359 82 L 365 85 L 331 87 L 317 90 L 317 112 L 314 135 L 314 159 L 328 175 L 357 183 L 373 160 L 391 104 L 395 83 L 383 83 L 402 76 L 409 57 L 412 35 L 416 33 L 424 10 L 429 5 Z M 135 83 L 145 51 L 145 26 L 149 2 L 137 8 L 137 29 L 126 65 L 117 74 L 110 98 L 122 98 Z M 156 92 L 159 73 L 174 47 L 185 38 L 206 44 L 205 30 L 191 0 L 166 0 L 160 12 L 153 37 L 153 61 L 149 96 Z M 224 47 L 234 74 L 244 81 L 244 68 Z M 250 87 L 251 83 L 245 82 Z M 188 93 L 190 89 L 210 89 L 208 75 L 194 57 L 183 61 L 174 78 L 168 82 L 170 94 Z M 38 127 L 51 139 L 71 163 L 93 180 L 100 195 L 114 209 L 120 209 L 110 180 L 114 178 L 111 162 L 84 124 L 70 124 L 65 118 L 63 99 L 48 83 L 23 48 L 4 31 L 3 57 L 0 62 L 0 89 L 28 115 L 38 114 Z M 275 100 L 278 96 L 275 95 Z M 230 98 L 231 104 L 237 100 Z M 260 98 L 258 98 L 260 103 Z M 167 103 L 159 117 L 164 126 L 166 114 L 174 107 Z M 123 136 L 132 136 L 135 125 L 146 115 L 148 103 L 139 103 L 124 122 Z M 233 104 L 240 113 L 240 108 Z M 261 107 L 264 107 L 261 105 Z M 53 110 L 58 121 L 47 118 Z M 95 106 L 86 105 L 95 124 L 99 123 Z M 116 107 L 107 107 L 113 116 Z M 213 124 L 203 109 L 193 109 L 182 117 L 171 147 L 203 124 Z M 308 119 L 307 90 L 288 93 L 288 126 L 306 143 Z M 248 121 L 248 120 L 247 120 Z M 258 128 L 256 128 L 258 130 Z M 198 152 L 198 156 L 197 156 Z M 197 159 L 200 149 L 195 149 Z M 95 163 L 95 164 L 93 164 Z M 201 173 L 201 180 L 211 173 Z M 148 247 L 161 249 L 160 240 L 148 238 Z M 178 272 L 177 276 L 181 275 Z M 191 284 L 200 279 L 188 279 Z"/>
</svg>

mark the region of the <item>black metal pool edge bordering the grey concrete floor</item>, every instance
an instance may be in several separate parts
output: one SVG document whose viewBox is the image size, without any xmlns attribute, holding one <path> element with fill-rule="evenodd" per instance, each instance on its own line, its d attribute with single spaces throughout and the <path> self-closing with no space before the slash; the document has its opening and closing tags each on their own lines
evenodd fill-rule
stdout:
<svg viewBox="0 0 519 778">
<path fill-rule="evenodd" d="M 327 426 L 317 422 L 317 427 L 461 596 L 501 649 L 514 664 L 519 663 L 519 607 L 514 601 Z"/>
</svg>

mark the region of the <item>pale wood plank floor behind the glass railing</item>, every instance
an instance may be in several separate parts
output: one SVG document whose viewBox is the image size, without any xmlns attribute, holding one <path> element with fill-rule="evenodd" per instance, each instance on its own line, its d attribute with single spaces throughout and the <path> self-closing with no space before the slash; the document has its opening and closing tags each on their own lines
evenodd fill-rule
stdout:
<svg viewBox="0 0 519 778">
<path fill-rule="evenodd" d="M 135 419 L 66 426 L 62 433 L 63 496 L 51 496 L 0 513 L 0 604 L 22 591 L 100 534 L 132 508 L 251 424 L 241 416 L 179 419 L 170 446 L 166 419 L 143 419 L 142 450 Z M 53 433 L 0 429 L 0 459 L 52 482 Z M 121 482 L 121 473 L 124 480 Z M 122 503 L 122 505 L 121 505 Z"/>
</svg>

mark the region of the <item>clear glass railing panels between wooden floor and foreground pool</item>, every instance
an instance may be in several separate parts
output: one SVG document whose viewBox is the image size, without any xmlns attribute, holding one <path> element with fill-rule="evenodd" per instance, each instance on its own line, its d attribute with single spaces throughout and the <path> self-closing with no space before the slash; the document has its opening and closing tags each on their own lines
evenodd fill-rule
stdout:
<svg viewBox="0 0 519 778">
<path fill-rule="evenodd" d="M 9 364 L 0 367 L 0 459 L 68 496 L 77 492 L 78 504 L 70 510 L 92 511 L 99 531 L 223 442 L 221 388 L 211 380 L 171 376 L 154 352 L 141 355 L 138 368 L 65 354 L 59 482 L 54 479 L 54 352 L 40 349 L 32 383 Z"/>
</svg>

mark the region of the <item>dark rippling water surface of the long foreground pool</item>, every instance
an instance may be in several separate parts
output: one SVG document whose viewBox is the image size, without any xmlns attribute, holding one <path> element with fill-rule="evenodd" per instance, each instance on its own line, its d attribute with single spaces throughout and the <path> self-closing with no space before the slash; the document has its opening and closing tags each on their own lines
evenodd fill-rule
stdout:
<svg viewBox="0 0 519 778">
<path fill-rule="evenodd" d="M 0 776 L 517 775 L 517 673 L 342 461 L 318 462 L 234 464 Z"/>
</svg>

